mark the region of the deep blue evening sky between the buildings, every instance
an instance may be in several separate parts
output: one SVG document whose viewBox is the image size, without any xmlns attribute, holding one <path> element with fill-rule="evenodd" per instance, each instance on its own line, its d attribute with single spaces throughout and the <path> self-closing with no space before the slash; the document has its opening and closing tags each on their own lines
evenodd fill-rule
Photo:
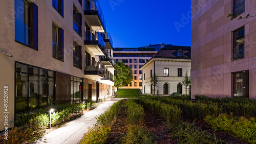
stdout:
<svg viewBox="0 0 256 144">
<path fill-rule="evenodd" d="M 99 0 L 114 47 L 191 45 L 190 0 Z"/>
</svg>

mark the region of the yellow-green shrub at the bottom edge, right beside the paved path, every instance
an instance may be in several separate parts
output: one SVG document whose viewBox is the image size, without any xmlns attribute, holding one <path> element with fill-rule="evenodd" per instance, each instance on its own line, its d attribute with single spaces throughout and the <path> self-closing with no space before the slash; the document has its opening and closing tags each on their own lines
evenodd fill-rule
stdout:
<svg viewBox="0 0 256 144">
<path fill-rule="evenodd" d="M 110 132 L 110 127 L 101 126 L 99 129 L 89 130 L 80 141 L 81 143 L 105 143 Z"/>
</svg>

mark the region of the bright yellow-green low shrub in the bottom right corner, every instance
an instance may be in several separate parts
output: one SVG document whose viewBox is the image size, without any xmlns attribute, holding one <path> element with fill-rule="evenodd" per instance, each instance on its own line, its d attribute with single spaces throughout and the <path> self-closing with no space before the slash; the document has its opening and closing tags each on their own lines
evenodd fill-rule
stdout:
<svg viewBox="0 0 256 144">
<path fill-rule="evenodd" d="M 235 137 L 247 140 L 250 143 L 256 143 L 256 119 L 232 116 L 229 114 L 220 114 L 219 116 L 208 115 L 205 121 L 214 130 L 223 130 L 233 134 Z"/>
</svg>

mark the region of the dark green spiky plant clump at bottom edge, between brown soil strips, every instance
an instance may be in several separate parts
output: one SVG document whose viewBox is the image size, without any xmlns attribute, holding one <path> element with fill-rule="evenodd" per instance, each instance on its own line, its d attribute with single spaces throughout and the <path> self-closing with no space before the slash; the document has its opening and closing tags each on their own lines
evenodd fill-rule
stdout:
<svg viewBox="0 0 256 144">
<path fill-rule="evenodd" d="M 171 124 L 172 139 L 178 139 L 177 143 L 222 143 L 215 136 L 208 134 L 194 124 L 176 123 Z"/>
</svg>

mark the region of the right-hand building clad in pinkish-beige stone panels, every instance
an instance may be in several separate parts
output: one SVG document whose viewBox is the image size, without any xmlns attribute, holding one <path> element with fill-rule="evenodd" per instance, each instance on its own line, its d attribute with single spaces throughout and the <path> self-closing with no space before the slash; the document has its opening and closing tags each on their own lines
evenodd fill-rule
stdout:
<svg viewBox="0 0 256 144">
<path fill-rule="evenodd" d="M 253 0 L 192 0 L 191 94 L 256 98 L 256 17 Z"/>
</svg>

